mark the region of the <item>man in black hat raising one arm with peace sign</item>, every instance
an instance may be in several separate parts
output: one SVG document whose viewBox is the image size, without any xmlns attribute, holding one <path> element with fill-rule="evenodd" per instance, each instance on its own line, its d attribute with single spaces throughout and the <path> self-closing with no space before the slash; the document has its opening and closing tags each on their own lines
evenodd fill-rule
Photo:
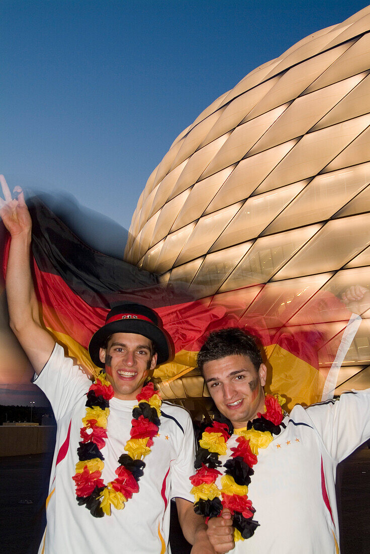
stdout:
<svg viewBox="0 0 370 554">
<path fill-rule="evenodd" d="M 183 409 L 161 403 L 145 381 L 169 346 L 154 311 L 117 306 L 93 335 L 89 352 L 102 368 L 92 383 L 41 327 L 29 265 L 32 222 L 23 193 L 0 216 L 11 234 L 6 290 L 11 327 L 32 363 L 58 422 L 39 552 L 169 552 L 170 499 L 192 552 L 213 554 L 194 514 L 192 424 Z"/>
</svg>

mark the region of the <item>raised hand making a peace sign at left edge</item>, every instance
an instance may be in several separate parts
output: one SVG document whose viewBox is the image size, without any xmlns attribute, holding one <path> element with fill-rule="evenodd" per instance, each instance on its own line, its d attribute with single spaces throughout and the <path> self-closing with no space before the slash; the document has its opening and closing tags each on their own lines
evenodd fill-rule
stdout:
<svg viewBox="0 0 370 554">
<path fill-rule="evenodd" d="M 3 175 L 0 175 L 0 183 L 4 199 L 0 198 L 0 217 L 12 237 L 20 233 L 29 233 L 32 228 L 32 220 L 24 201 L 22 188 L 14 187 L 17 198 L 12 198 L 8 184 Z"/>
</svg>

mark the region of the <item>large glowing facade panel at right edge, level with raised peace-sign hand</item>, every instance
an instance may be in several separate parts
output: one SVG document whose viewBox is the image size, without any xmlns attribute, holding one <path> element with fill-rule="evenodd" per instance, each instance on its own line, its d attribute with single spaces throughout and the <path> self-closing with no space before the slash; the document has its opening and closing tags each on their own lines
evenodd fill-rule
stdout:
<svg viewBox="0 0 370 554">
<path fill-rule="evenodd" d="M 370 164 L 317 175 L 268 226 L 266 233 L 279 233 L 329 219 L 369 181 Z"/>
</svg>

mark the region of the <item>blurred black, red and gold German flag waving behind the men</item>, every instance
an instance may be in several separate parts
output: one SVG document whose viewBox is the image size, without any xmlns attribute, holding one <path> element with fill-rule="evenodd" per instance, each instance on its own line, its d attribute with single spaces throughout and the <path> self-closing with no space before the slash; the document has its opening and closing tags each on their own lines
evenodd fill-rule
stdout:
<svg viewBox="0 0 370 554">
<path fill-rule="evenodd" d="M 196 367 L 196 354 L 210 331 L 238 326 L 259 338 L 265 362 L 273 370 L 268 391 L 285 396 L 290 408 L 321 399 L 327 370 L 320 370 L 320 351 L 325 351 L 326 360 L 334 359 L 351 315 L 335 296 L 311 299 L 308 309 L 300 312 L 304 320 L 299 325 L 291 324 L 292 307 L 288 320 L 269 315 L 265 285 L 194 299 L 181 285 L 161 284 L 159 275 L 87 246 L 38 198 L 27 203 L 33 220 L 34 283 L 44 325 L 87 371 L 98 371 L 87 347 L 107 312 L 121 302 L 135 301 L 158 312 L 173 340 L 173 360 L 155 370 L 161 381 L 172 381 Z M 9 238 L 4 240 L 4 272 L 8 248 Z M 338 322 L 334 334 L 320 316 L 329 311 Z"/>
</svg>

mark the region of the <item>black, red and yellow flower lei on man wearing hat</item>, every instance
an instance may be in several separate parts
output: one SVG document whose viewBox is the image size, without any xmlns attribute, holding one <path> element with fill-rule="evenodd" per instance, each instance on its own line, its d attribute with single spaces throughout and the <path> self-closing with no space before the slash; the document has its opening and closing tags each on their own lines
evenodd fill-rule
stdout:
<svg viewBox="0 0 370 554">
<path fill-rule="evenodd" d="M 116 479 L 105 485 L 101 479 L 104 456 L 100 450 L 107 438 L 109 401 L 113 394 L 106 373 L 101 371 L 87 392 L 86 416 L 82 418 L 84 427 L 80 430 L 82 440 L 77 448 L 80 461 L 72 477 L 78 504 L 85 505 L 94 517 L 110 516 L 111 505 L 122 510 L 133 493 L 138 493 L 138 481 L 145 467 L 142 458 L 149 454 L 160 425 L 161 398 L 154 391 L 153 383 L 149 383 L 136 397 L 139 405 L 132 412 L 131 439 L 124 447 L 127 454 L 118 459 Z"/>
</svg>

